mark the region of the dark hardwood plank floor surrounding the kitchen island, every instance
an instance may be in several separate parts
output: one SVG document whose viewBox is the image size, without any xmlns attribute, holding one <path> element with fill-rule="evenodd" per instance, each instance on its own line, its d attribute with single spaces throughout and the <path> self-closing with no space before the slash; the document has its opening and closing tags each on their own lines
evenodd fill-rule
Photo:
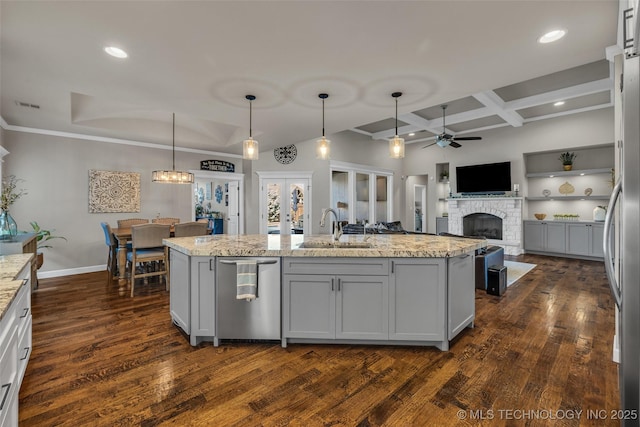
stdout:
<svg viewBox="0 0 640 427">
<path fill-rule="evenodd" d="M 603 264 L 512 259 L 537 267 L 501 298 L 476 291 L 475 328 L 448 352 L 191 347 L 163 284 L 130 298 L 105 273 L 41 280 L 20 425 L 619 425 L 594 416 L 619 408 Z"/>
</svg>

